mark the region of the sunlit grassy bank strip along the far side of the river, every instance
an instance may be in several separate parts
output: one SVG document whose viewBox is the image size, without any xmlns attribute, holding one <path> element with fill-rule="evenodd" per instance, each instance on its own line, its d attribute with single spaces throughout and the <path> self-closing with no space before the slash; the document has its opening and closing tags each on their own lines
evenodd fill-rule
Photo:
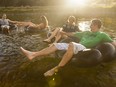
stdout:
<svg viewBox="0 0 116 87">
<path fill-rule="evenodd" d="M 116 14 L 116 6 L 114 7 L 83 7 L 83 8 L 69 8 L 65 6 L 20 6 L 20 7 L 0 7 L 0 13 L 11 12 L 57 12 L 57 13 L 72 13 L 78 15 L 98 15 L 98 16 L 113 16 Z M 86 16 L 85 15 L 85 16 Z"/>
</svg>

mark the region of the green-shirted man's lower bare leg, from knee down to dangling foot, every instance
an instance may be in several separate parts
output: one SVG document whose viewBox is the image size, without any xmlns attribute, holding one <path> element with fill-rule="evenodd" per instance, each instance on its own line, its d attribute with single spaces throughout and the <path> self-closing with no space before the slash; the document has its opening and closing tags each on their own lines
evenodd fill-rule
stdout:
<svg viewBox="0 0 116 87">
<path fill-rule="evenodd" d="M 58 66 L 56 66 L 56 67 L 52 68 L 51 70 L 45 72 L 44 76 L 52 76 L 59 67 L 65 66 L 72 59 L 73 49 L 74 49 L 73 44 L 70 43 L 67 52 L 64 54 L 62 60 L 58 64 Z"/>
</svg>

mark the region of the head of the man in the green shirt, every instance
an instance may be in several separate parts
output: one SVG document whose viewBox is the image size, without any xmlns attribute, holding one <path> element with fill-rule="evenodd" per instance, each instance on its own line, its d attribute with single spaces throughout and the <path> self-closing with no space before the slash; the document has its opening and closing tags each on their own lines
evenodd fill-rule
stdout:
<svg viewBox="0 0 116 87">
<path fill-rule="evenodd" d="M 97 32 L 97 31 L 99 31 L 100 28 L 101 28 L 101 26 L 102 26 L 101 20 L 99 20 L 99 19 L 93 19 L 93 20 L 91 21 L 90 28 L 91 28 L 91 31 L 92 31 L 92 32 Z"/>
</svg>

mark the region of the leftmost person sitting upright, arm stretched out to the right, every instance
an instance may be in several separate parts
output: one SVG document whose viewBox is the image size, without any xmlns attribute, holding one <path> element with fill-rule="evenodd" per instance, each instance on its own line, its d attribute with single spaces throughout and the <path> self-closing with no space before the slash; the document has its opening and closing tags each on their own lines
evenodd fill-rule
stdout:
<svg viewBox="0 0 116 87">
<path fill-rule="evenodd" d="M 2 33 L 7 33 L 10 34 L 10 23 L 12 24 L 16 24 L 17 21 L 11 21 L 10 19 L 7 19 L 6 14 L 2 15 L 2 18 L 0 19 L 0 27 L 1 27 L 1 31 Z"/>
</svg>

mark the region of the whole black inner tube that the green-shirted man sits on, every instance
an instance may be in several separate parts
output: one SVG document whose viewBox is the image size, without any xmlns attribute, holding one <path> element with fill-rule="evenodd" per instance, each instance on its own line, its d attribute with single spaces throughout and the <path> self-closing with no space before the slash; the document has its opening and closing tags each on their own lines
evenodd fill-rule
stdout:
<svg viewBox="0 0 116 87">
<path fill-rule="evenodd" d="M 57 52 L 57 57 L 62 58 L 65 51 Z M 73 56 L 74 65 L 78 66 L 94 66 L 100 62 L 108 62 L 116 59 L 116 49 L 110 43 L 103 43 L 95 49 L 79 52 Z"/>
</svg>

